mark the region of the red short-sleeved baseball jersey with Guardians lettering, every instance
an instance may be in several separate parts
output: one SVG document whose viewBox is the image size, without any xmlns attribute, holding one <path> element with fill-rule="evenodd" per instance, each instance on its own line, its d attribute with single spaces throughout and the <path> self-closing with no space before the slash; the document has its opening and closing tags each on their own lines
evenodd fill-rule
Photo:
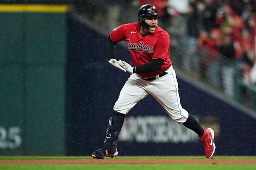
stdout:
<svg viewBox="0 0 256 170">
<path fill-rule="evenodd" d="M 116 43 L 120 41 L 127 42 L 134 67 L 151 62 L 154 59 L 164 60 L 160 69 L 138 74 L 141 77 L 154 77 L 172 65 L 172 61 L 170 61 L 170 36 L 159 26 L 157 26 L 154 34 L 142 36 L 138 22 L 127 23 L 115 28 L 110 33 L 110 38 Z"/>
</svg>

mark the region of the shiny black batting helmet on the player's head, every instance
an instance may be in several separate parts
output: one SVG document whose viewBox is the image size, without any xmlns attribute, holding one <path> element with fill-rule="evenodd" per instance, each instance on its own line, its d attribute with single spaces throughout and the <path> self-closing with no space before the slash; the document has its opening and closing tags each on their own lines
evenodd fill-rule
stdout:
<svg viewBox="0 0 256 170">
<path fill-rule="evenodd" d="M 159 16 L 157 13 L 157 8 L 151 4 L 142 5 L 139 8 L 138 19 L 140 26 L 150 28 L 150 26 L 148 26 L 148 24 L 145 22 L 144 17 L 146 16 Z"/>
</svg>

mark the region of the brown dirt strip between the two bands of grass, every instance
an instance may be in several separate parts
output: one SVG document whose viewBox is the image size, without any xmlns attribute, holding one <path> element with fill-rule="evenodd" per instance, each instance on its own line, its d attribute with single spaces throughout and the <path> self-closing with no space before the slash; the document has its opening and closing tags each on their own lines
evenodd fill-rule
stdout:
<svg viewBox="0 0 256 170">
<path fill-rule="evenodd" d="M 256 159 L 6 159 L 0 164 L 217 164 L 255 165 Z"/>
</svg>

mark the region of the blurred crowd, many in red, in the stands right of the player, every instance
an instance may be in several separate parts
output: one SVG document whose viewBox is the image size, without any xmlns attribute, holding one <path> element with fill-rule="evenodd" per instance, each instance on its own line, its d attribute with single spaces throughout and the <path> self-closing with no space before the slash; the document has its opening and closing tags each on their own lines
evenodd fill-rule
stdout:
<svg viewBox="0 0 256 170">
<path fill-rule="evenodd" d="M 184 23 L 182 28 L 186 31 L 181 32 L 180 26 L 177 30 L 186 37 L 185 42 L 193 48 L 191 52 L 201 52 L 197 61 L 201 79 L 206 78 L 209 67 L 216 66 L 222 59 L 223 64 L 240 69 L 245 83 L 256 85 L 256 1 L 170 0 L 167 5 L 170 18 Z M 221 88 L 218 80 L 221 72 L 211 70 L 211 74 L 217 75 L 211 75 L 208 80 Z"/>
</svg>

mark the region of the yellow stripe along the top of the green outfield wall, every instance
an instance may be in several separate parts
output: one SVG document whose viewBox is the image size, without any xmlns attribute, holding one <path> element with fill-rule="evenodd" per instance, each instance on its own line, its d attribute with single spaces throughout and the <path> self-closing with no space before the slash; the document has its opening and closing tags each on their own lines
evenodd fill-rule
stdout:
<svg viewBox="0 0 256 170">
<path fill-rule="evenodd" d="M 0 5 L 0 12 L 65 13 L 67 10 L 67 5 Z"/>
</svg>

